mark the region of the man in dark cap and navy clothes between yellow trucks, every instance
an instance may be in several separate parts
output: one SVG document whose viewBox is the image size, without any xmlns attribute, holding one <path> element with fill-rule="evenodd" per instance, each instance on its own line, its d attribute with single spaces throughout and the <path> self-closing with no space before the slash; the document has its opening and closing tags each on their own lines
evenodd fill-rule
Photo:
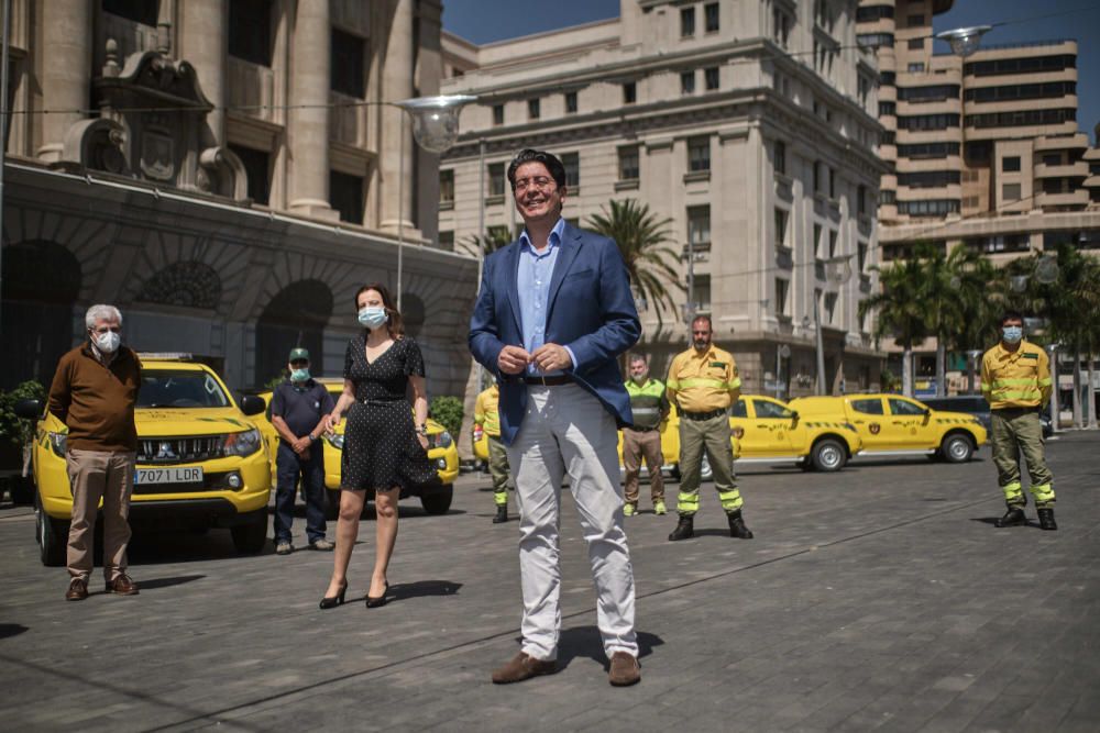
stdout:
<svg viewBox="0 0 1100 733">
<path fill-rule="evenodd" d="M 310 549 L 331 551 L 324 538 L 324 457 L 318 438 L 332 412 L 332 396 L 309 376 L 309 352 L 290 349 L 290 376 L 272 395 L 272 425 L 278 432 L 275 456 L 275 554 L 289 555 L 294 497 L 298 479 L 306 496 L 306 537 Z"/>
</svg>

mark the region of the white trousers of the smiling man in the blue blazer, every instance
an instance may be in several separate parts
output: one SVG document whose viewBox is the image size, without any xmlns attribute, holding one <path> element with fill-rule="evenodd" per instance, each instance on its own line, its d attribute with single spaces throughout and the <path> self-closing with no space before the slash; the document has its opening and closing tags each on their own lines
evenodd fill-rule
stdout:
<svg viewBox="0 0 1100 733">
<path fill-rule="evenodd" d="M 522 651 L 556 659 L 561 632 L 561 481 L 570 489 L 588 545 L 596 587 L 596 623 L 607 657 L 638 656 L 634 632 L 634 569 L 623 531 L 618 432 L 600 401 L 575 385 L 528 386 L 527 413 L 508 446 L 519 509 L 524 590 Z"/>
</svg>

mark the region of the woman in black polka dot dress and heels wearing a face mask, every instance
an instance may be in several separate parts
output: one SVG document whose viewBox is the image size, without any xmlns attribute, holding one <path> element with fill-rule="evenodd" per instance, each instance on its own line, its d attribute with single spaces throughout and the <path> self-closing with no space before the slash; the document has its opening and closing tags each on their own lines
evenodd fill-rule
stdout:
<svg viewBox="0 0 1100 733">
<path fill-rule="evenodd" d="M 420 347 L 403 335 L 400 313 L 385 286 L 372 284 L 355 293 L 355 308 L 364 332 L 348 343 L 344 388 L 326 430 L 348 414 L 340 465 L 340 519 L 333 553 L 332 579 L 321 608 L 343 602 L 348 564 L 359 535 L 359 518 L 366 492 L 374 492 L 377 514 L 377 554 L 366 595 L 366 606 L 386 602 L 386 568 L 397 540 L 397 500 L 403 487 L 439 480 L 428 460 L 428 397 Z M 415 400 L 409 409 L 406 389 Z M 414 422 L 413 413 L 416 413 Z"/>
</svg>

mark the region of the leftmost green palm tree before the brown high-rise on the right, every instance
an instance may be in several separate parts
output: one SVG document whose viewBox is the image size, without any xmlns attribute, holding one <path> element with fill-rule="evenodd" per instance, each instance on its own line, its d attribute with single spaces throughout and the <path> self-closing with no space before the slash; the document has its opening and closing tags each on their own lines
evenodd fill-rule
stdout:
<svg viewBox="0 0 1100 733">
<path fill-rule="evenodd" d="M 917 259 L 873 267 L 879 271 L 881 292 L 859 303 L 859 316 L 877 311 L 875 337 L 892 336 L 902 347 L 902 391 L 913 396 L 913 344 L 928 335 L 922 300 L 924 265 Z"/>
</svg>

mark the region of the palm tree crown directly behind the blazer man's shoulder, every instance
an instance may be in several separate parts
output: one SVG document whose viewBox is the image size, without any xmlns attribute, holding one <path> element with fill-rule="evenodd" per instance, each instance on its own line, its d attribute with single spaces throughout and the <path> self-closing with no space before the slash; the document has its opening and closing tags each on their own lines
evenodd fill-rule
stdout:
<svg viewBox="0 0 1100 733">
<path fill-rule="evenodd" d="M 672 220 L 658 219 L 649 211 L 649 204 L 634 199 L 613 199 L 608 207 L 588 216 L 588 227 L 618 244 L 635 298 L 657 304 L 658 319 L 662 304 L 674 313 L 676 303 L 667 286 L 672 284 L 680 291 L 685 288 L 674 267 L 679 257 L 667 245 L 672 241 L 669 230 Z"/>
</svg>

